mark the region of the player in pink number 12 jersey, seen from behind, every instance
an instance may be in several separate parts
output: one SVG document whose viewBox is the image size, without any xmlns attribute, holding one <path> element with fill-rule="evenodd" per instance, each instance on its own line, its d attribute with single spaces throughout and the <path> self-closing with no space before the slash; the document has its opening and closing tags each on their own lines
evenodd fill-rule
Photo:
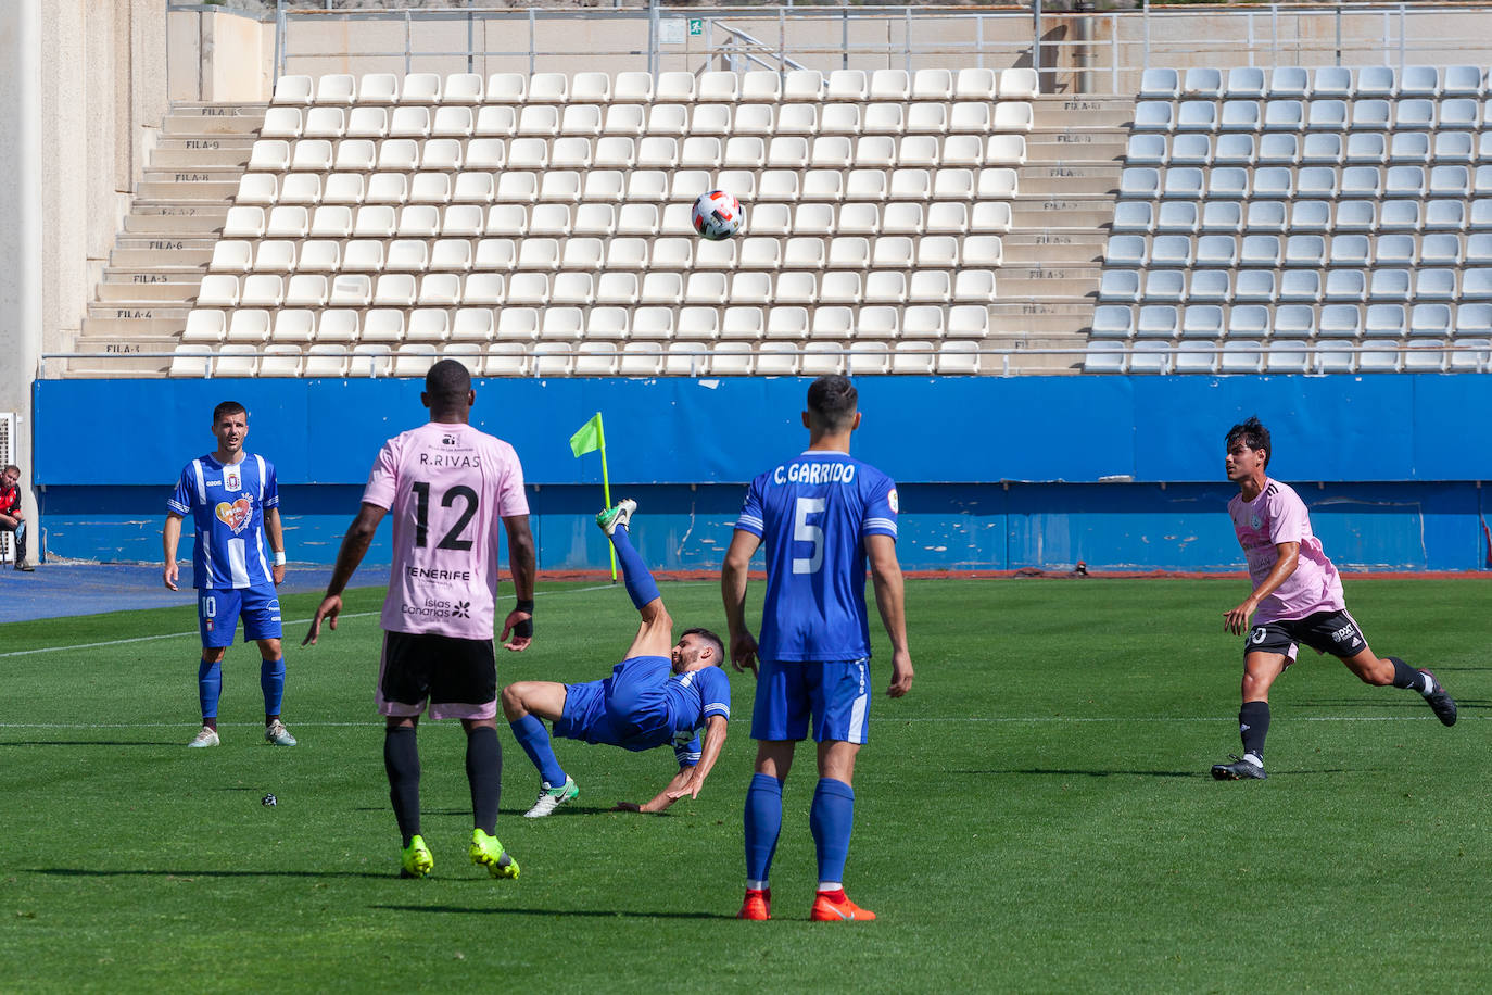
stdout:
<svg viewBox="0 0 1492 995">
<path fill-rule="evenodd" d="M 461 719 L 467 734 L 466 768 L 474 822 L 471 862 L 485 865 L 492 877 L 518 877 L 518 864 L 492 835 L 503 774 L 492 603 L 498 540 L 506 531 L 518 606 L 503 622 L 503 640 L 509 650 L 528 649 L 534 537 L 528 528 L 524 470 L 512 446 L 467 424 L 476 394 L 464 365 L 442 360 L 430 367 L 419 400 L 430 409 L 430 422 L 383 443 L 363 491 L 363 509 L 342 540 L 327 597 L 303 644 L 315 644 L 322 621 L 337 628 L 342 591 L 363 562 L 383 515 L 392 512 L 394 565 L 383 600 L 376 700 L 385 716 L 389 800 L 404 838 L 401 874 L 424 877 L 434 867 L 419 835 L 415 738 L 428 701 L 431 719 Z"/>
</svg>

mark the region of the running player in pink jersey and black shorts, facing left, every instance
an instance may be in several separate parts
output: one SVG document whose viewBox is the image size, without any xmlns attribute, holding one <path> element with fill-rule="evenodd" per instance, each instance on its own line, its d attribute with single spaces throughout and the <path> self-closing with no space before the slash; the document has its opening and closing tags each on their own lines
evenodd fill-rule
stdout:
<svg viewBox="0 0 1492 995">
<path fill-rule="evenodd" d="M 1456 724 L 1456 703 L 1428 670 L 1398 656 L 1377 656 L 1347 615 L 1341 577 L 1310 528 L 1306 503 L 1292 488 L 1267 474 L 1270 431 L 1250 418 L 1228 430 L 1228 479 L 1238 494 L 1228 501 L 1232 528 L 1249 561 L 1253 594 L 1223 616 L 1235 635 L 1249 628 L 1243 647 L 1243 707 L 1238 732 L 1243 756 L 1214 764 L 1217 780 L 1264 779 L 1264 737 L 1270 731 L 1270 685 L 1295 662 L 1300 643 L 1331 653 L 1364 683 L 1408 688 L 1425 697 L 1446 725 Z"/>
</svg>

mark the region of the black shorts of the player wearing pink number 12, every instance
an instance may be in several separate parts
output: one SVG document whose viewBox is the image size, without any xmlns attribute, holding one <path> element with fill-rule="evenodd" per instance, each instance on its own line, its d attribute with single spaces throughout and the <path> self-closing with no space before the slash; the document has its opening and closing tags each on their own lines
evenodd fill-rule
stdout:
<svg viewBox="0 0 1492 995">
<path fill-rule="evenodd" d="M 497 716 L 497 659 L 489 638 L 455 638 L 434 633 L 383 633 L 377 674 L 380 715 L 431 719 Z"/>
</svg>

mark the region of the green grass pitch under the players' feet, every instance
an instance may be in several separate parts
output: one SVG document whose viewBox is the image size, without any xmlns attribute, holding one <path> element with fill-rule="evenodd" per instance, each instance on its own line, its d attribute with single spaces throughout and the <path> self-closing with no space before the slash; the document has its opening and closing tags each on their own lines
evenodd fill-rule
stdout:
<svg viewBox="0 0 1492 995">
<path fill-rule="evenodd" d="M 916 580 L 916 683 L 861 753 L 849 894 L 880 920 L 807 922 L 812 753 L 788 780 L 776 920 L 733 919 L 752 680 L 733 674 L 725 755 L 698 801 L 649 798 L 671 753 L 558 741 L 580 798 L 519 814 L 537 777 L 506 729 L 497 832 L 522 865 L 466 858 L 463 737 L 421 728 L 434 874 L 395 877 L 373 713 L 379 591 L 300 649 L 286 598 L 285 719 L 261 743 L 258 664 L 234 647 L 222 738 L 195 729 L 195 618 L 169 609 L 0 627 L 4 807 L 0 989 L 225 991 L 1471 991 L 1492 879 L 1486 583 L 1358 580 L 1380 653 L 1461 701 L 1308 650 L 1274 688 L 1268 782 L 1216 783 L 1238 752 L 1238 580 Z M 664 583 L 680 625 L 719 627 L 713 583 Z M 759 604 L 759 586 L 753 589 Z M 604 676 L 633 635 L 616 586 L 542 585 L 539 633 L 501 682 Z M 124 641 L 136 640 L 136 641 Z M 94 646 L 87 646 L 94 643 Z M 107 644 L 103 644 L 107 643 Z M 57 652 L 25 650 L 84 646 Z M 279 804 L 260 804 L 273 792 Z"/>
</svg>

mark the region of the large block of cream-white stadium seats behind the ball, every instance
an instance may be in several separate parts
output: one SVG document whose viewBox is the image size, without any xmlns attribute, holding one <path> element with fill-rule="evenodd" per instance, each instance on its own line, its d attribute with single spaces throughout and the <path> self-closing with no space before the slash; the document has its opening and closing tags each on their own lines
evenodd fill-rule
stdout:
<svg viewBox="0 0 1492 995">
<path fill-rule="evenodd" d="M 182 343 L 215 374 L 977 371 L 1034 95 L 1024 69 L 285 76 Z M 727 243 L 689 228 L 716 185 L 749 204 Z M 276 352 L 224 352 L 251 339 Z"/>
</svg>

